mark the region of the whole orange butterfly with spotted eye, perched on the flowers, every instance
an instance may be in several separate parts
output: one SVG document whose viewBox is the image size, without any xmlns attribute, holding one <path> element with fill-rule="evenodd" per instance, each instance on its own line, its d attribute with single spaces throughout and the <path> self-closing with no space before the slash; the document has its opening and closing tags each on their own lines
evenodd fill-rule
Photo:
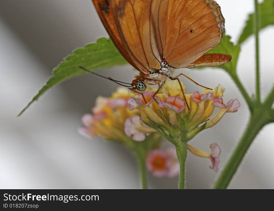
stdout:
<svg viewBox="0 0 274 211">
<path fill-rule="evenodd" d="M 174 69 L 231 60 L 231 55 L 204 55 L 220 43 L 224 32 L 224 17 L 213 0 L 92 1 L 120 53 L 139 70 L 130 86 L 137 93 L 158 84 L 155 96 L 166 80 L 187 77 L 172 76 Z"/>
</svg>

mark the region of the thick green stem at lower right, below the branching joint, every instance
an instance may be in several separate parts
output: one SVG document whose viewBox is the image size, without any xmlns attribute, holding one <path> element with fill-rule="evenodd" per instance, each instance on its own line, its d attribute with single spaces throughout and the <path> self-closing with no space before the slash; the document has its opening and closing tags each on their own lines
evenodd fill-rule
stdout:
<svg viewBox="0 0 274 211">
<path fill-rule="evenodd" d="M 268 123 L 268 111 L 261 108 L 261 111 L 255 111 L 249 121 L 245 132 L 240 139 L 236 149 L 230 157 L 228 163 L 225 165 L 224 170 L 219 176 L 217 182 L 214 185 L 214 189 L 225 189 L 229 185 L 230 180 L 236 173 L 240 163 L 242 162 L 249 146 L 253 142 L 254 138 L 260 132 L 262 127 Z"/>
</svg>

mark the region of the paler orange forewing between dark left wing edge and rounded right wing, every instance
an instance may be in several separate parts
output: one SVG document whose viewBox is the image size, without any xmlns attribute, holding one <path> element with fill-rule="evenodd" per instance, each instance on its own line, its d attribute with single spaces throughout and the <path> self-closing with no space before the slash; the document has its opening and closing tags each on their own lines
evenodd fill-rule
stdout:
<svg viewBox="0 0 274 211">
<path fill-rule="evenodd" d="M 126 49 L 146 70 L 160 69 L 150 39 L 150 11 L 153 0 L 109 0 L 117 28 Z"/>
</svg>

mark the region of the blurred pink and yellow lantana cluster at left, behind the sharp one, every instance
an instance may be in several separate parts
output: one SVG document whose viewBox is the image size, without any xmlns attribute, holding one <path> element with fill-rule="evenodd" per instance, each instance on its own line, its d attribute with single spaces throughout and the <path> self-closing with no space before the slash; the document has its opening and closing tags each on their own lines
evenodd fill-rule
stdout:
<svg viewBox="0 0 274 211">
<path fill-rule="evenodd" d="M 133 140 L 144 141 L 146 136 L 155 130 L 144 125 L 138 110 L 129 109 L 130 97 L 125 88 L 118 88 L 109 98 L 99 96 L 92 108 L 92 114 L 83 115 L 84 126 L 78 129 L 79 133 L 88 138 L 101 136 L 107 140 L 122 141 L 127 145 L 130 144 L 129 137 L 133 133 Z"/>
</svg>

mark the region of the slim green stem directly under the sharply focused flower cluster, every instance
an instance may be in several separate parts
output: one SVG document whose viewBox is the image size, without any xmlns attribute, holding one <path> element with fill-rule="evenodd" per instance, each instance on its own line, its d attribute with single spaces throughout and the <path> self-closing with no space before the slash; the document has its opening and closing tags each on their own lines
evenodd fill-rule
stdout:
<svg viewBox="0 0 274 211">
<path fill-rule="evenodd" d="M 185 189 L 185 164 L 187 159 L 187 142 L 179 141 L 175 147 L 180 164 L 179 189 Z"/>
</svg>

